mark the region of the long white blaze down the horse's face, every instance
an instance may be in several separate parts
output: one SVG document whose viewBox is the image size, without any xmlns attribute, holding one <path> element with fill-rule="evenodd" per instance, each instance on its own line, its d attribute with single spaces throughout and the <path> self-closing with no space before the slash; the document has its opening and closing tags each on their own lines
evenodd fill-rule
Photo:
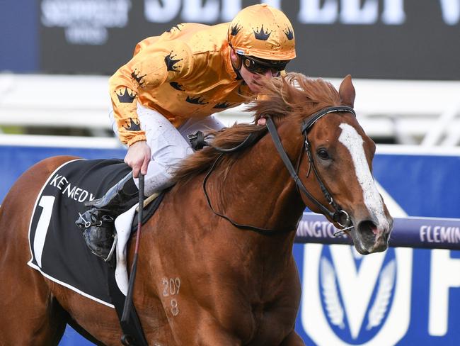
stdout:
<svg viewBox="0 0 460 346">
<path fill-rule="evenodd" d="M 364 140 L 352 126 L 342 123 L 340 128 L 342 133 L 340 133 L 338 140 L 350 152 L 355 165 L 356 177 L 362 188 L 364 204 L 369 213 L 377 218 L 380 228 L 388 228 L 389 224 L 384 214 L 384 203 L 367 164 L 366 155 L 364 155 Z"/>
</svg>

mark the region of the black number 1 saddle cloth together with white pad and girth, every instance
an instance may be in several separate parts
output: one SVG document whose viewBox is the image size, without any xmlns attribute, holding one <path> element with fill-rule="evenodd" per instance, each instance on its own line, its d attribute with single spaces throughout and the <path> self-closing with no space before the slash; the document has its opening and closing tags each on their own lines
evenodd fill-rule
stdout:
<svg viewBox="0 0 460 346">
<path fill-rule="evenodd" d="M 129 311 L 131 322 L 122 322 L 126 287 L 119 284 L 124 282 L 126 286 L 127 270 L 126 266 L 118 272 L 115 268 L 116 262 L 126 264 L 125 247 L 132 231 L 137 230 L 135 206 L 129 211 L 124 242 L 117 246 L 117 256 L 109 263 L 91 253 L 74 222 L 87 210 L 85 202 L 103 196 L 130 170 L 122 160 L 72 160 L 52 172 L 35 201 L 29 228 L 28 265 L 86 298 L 115 308 L 124 337 L 129 335 L 137 345 L 146 345 L 134 306 Z M 154 203 L 146 206 L 142 223 L 154 214 L 165 194 L 163 191 Z"/>
</svg>

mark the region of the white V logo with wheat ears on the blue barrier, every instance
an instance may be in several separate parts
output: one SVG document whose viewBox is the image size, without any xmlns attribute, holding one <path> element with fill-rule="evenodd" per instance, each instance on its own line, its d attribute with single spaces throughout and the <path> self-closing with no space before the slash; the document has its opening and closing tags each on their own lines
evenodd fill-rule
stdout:
<svg viewBox="0 0 460 346">
<path fill-rule="evenodd" d="M 410 322 L 412 249 L 305 245 L 301 323 L 318 345 L 394 345 Z"/>
</svg>

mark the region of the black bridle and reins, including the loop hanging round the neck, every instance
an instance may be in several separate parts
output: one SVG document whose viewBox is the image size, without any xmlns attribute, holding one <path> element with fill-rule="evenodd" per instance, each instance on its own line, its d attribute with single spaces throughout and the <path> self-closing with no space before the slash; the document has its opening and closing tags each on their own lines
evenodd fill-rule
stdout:
<svg viewBox="0 0 460 346">
<path fill-rule="evenodd" d="M 334 211 L 330 211 L 329 208 L 327 208 L 320 201 L 315 199 L 315 197 L 312 194 L 310 194 L 310 192 L 306 189 L 304 184 L 301 182 L 301 179 L 300 179 L 299 174 L 298 174 L 300 164 L 297 165 L 297 169 L 294 168 L 294 166 L 292 165 L 291 160 L 289 159 L 289 157 L 287 156 L 286 151 L 284 150 L 284 147 L 282 146 L 280 136 L 277 133 L 277 128 L 275 126 L 275 123 L 273 123 L 272 118 L 270 116 L 266 117 L 266 121 L 267 121 L 266 125 L 267 125 L 267 128 L 268 128 L 268 132 L 272 136 L 273 143 L 275 144 L 275 147 L 276 147 L 278 153 L 280 154 L 280 157 L 281 157 L 282 161 L 284 162 L 284 166 L 287 168 L 287 170 L 288 170 L 289 174 L 291 175 L 292 179 L 294 179 L 294 182 L 295 182 L 295 184 L 297 186 L 297 189 L 300 191 L 301 194 L 304 194 L 312 203 L 314 203 L 314 205 L 317 206 L 324 215 L 328 216 L 328 218 L 330 218 L 330 220 L 335 221 L 335 223 L 338 223 L 338 225 L 340 225 L 340 227 L 342 227 L 342 229 L 340 229 L 340 230 L 338 230 L 338 232 L 334 233 L 335 236 L 342 235 L 343 233 L 345 233 L 345 230 L 349 230 L 349 229 L 353 228 L 353 226 L 351 225 L 351 219 L 350 219 L 350 216 L 348 215 L 348 213 L 346 211 L 344 211 L 342 208 L 340 208 L 338 203 L 336 203 L 334 201 L 333 196 L 330 194 L 330 192 L 328 191 L 328 189 L 324 185 L 323 181 L 321 180 L 321 177 L 318 174 L 318 170 L 316 169 L 316 166 L 314 164 L 313 155 L 311 154 L 311 144 L 310 144 L 309 139 L 308 139 L 308 134 L 309 134 L 309 131 L 311 130 L 311 128 L 313 128 L 313 126 L 316 123 L 316 121 L 318 121 L 320 118 L 323 118 L 323 116 L 326 116 L 327 114 L 337 113 L 337 112 L 352 113 L 354 116 L 356 116 L 355 110 L 353 108 L 349 107 L 349 106 L 328 107 L 328 108 L 323 108 L 321 111 L 318 111 L 318 112 L 314 113 L 308 119 L 304 120 L 302 122 L 302 125 L 301 125 L 301 133 L 302 133 L 302 135 L 304 135 L 304 138 L 305 138 L 304 145 L 305 145 L 305 151 L 306 151 L 307 157 L 309 158 L 310 169 L 313 168 L 313 172 L 314 172 L 316 180 L 317 180 L 317 182 L 318 182 L 318 184 L 319 184 L 319 186 L 321 188 L 321 191 L 323 192 L 323 195 L 324 195 L 326 201 L 328 201 L 329 205 L 333 207 Z M 209 208 L 211 208 L 213 213 L 215 213 L 217 216 L 225 218 L 232 225 L 234 225 L 234 226 L 236 226 L 238 228 L 243 228 L 243 229 L 247 229 L 247 230 L 253 230 L 255 232 L 262 233 L 262 234 L 265 234 L 265 235 L 275 235 L 275 234 L 280 233 L 280 232 L 290 232 L 292 230 L 269 230 L 269 229 L 265 229 L 265 228 L 258 228 L 258 227 L 255 227 L 253 225 L 239 224 L 239 223 L 236 223 L 235 221 L 231 220 L 231 218 L 229 218 L 228 216 L 225 216 L 224 214 L 219 213 L 218 211 L 215 211 L 214 208 L 212 207 L 211 200 L 209 199 L 209 195 L 207 194 L 206 183 L 207 183 L 207 179 L 209 179 L 209 176 L 211 175 L 212 171 L 214 170 L 214 167 L 216 166 L 217 162 L 219 162 L 219 160 L 221 159 L 222 155 L 224 155 L 224 153 L 226 153 L 226 152 L 234 152 L 236 150 L 241 150 L 241 148 L 243 148 L 243 147 L 248 147 L 248 145 L 243 145 L 243 144 L 246 144 L 246 143 L 251 143 L 252 144 L 252 143 L 254 143 L 254 141 L 255 141 L 254 138 L 251 138 L 251 135 L 250 135 L 250 137 L 246 138 L 246 140 L 243 143 L 241 143 L 240 145 L 238 145 L 237 147 L 234 147 L 234 148 L 229 149 L 229 148 L 219 148 L 219 147 L 214 147 L 213 146 L 214 149 L 220 151 L 221 154 L 214 161 L 214 163 L 212 164 L 212 167 L 209 169 L 209 171 L 207 172 L 207 174 L 205 176 L 205 179 L 203 180 L 203 191 L 205 192 L 207 203 L 208 203 Z M 307 177 L 308 177 L 308 174 L 307 174 Z M 343 218 L 345 218 L 345 221 L 343 221 Z"/>
</svg>

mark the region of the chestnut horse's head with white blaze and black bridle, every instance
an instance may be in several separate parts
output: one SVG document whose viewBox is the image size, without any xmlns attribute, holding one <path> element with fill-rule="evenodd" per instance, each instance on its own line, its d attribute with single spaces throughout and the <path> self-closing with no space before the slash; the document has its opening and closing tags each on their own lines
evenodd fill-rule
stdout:
<svg viewBox="0 0 460 346">
<path fill-rule="evenodd" d="M 393 219 L 372 177 L 375 144 L 352 110 L 351 77 L 345 77 L 339 91 L 301 74 L 288 74 L 265 86 L 266 97 L 254 108 L 256 117 L 283 118 L 278 123 L 282 143 L 288 154 L 289 147 L 297 147 L 292 154 L 297 173 L 313 197 L 302 194 L 306 206 L 345 228 L 363 255 L 386 250 Z"/>
</svg>

